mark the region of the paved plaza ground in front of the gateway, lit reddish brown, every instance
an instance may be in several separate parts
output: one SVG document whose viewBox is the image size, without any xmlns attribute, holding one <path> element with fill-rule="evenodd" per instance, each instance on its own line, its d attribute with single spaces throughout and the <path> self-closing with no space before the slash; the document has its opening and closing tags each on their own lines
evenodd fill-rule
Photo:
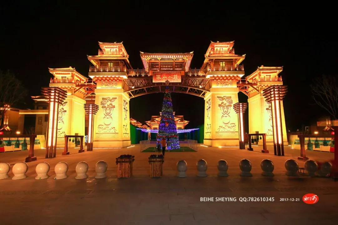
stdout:
<svg viewBox="0 0 338 225">
<path fill-rule="evenodd" d="M 92 152 L 45 159 L 45 149 L 35 150 L 38 160 L 28 163 L 28 177 L 22 180 L 0 180 L 0 224 L 334 224 L 337 222 L 338 183 L 330 178 L 304 175 L 287 177 L 284 162 L 298 161 L 299 150 L 285 148 L 286 156 L 278 157 L 238 148 L 199 147 L 197 152 L 167 152 L 162 178 L 149 177 L 147 158 L 139 145 L 122 149 L 94 149 Z M 0 154 L 0 162 L 13 166 L 27 157 L 27 151 Z M 135 156 L 133 177 L 117 179 L 115 158 L 120 154 Z M 310 159 L 329 161 L 333 153 L 307 151 Z M 239 161 L 252 164 L 252 177 L 239 176 Z M 260 162 L 274 163 L 274 177 L 261 175 Z M 176 163 L 185 160 L 187 177 L 176 177 Z M 196 162 L 205 159 L 208 177 L 197 177 Z M 217 176 L 217 162 L 229 164 L 228 177 Z M 107 178 L 95 179 L 95 164 L 108 164 Z M 54 180 L 54 166 L 67 162 L 66 179 Z M 75 166 L 86 161 L 88 179 L 76 180 Z M 35 166 L 50 164 L 50 178 L 35 180 Z M 10 171 L 12 177 L 13 173 Z M 319 202 L 305 204 L 302 197 L 315 193 Z M 202 202 L 200 197 L 236 197 L 232 202 Z M 273 202 L 240 202 L 240 197 L 274 197 Z M 299 202 L 283 202 L 280 198 L 299 198 Z"/>
</svg>

